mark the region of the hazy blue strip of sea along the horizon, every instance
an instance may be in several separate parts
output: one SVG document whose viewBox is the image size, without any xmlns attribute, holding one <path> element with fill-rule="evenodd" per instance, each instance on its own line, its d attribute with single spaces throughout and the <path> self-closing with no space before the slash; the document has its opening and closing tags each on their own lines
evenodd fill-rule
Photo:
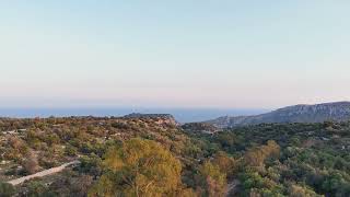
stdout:
<svg viewBox="0 0 350 197">
<path fill-rule="evenodd" d="M 268 112 L 258 108 L 154 108 L 154 107 L 81 107 L 81 108 L 0 108 L 1 117 L 33 118 L 62 116 L 124 116 L 131 113 L 172 114 L 179 123 L 202 121 L 219 116 L 256 115 Z"/>
</svg>

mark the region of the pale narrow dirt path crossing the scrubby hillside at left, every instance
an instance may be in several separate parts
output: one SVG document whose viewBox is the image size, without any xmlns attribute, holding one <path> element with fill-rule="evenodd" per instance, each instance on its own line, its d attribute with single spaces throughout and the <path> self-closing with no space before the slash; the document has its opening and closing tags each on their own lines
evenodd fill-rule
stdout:
<svg viewBox="0 0 350 197">
<path fill-rule="evenodd" d="M 66 167 L 68 167 L 70 165 L 73 165 L 73 164 L 78 164 L 78 163 L 80 163 L 80 162 L 79 161 L 72 161 L 72 162 L 69 162 L 69 163 L 65 163 L 65 164 L 62 164 L 62 165 L 60 165 L 58 167 L 48 169 L 48 170 L 32 174 L 32 175 L 28 175 L 28 176 L 23 176 L 23 177 L 20 177 L 18 179 L 12 179 L 12 181 L 10 181 L 8 183 L 13 185 L 13 186 L 20 185 L 20 184 L 24 183 L 25 181 L 28 181 L 28 179 L 32 179 L 32 178 L 44 177 L 44 176 L 47 176 L 47 175 L 59 173 L 59 172 L 63 171 Z"/>
</svg>

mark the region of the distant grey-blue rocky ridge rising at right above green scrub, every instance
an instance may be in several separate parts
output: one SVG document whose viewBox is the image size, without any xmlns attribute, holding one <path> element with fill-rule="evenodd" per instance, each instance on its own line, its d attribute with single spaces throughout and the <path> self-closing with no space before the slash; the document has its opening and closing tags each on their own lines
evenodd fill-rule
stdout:
<svg viewBox="0 0 350 197">
<path fill-rule="evenodd" d="M 350 102 L 295 105 L 256 116 L 219 117 L 207 123 L 217 127 L 236 127 L 264 123 L 322 123 L 350 120 Z"/>
</svg>

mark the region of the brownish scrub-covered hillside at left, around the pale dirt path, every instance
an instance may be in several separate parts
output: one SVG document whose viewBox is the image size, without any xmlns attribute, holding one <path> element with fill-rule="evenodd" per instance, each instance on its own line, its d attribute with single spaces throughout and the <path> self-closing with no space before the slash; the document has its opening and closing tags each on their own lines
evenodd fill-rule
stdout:
<svg viewBox="0 0 350 197">
<path fill-rule="evenodd" d="M 86 196 L 103 172 L 106 151 L 133 138 L 158 142 L 183 160 L 189 139 L 173 120 L 167 115 L 0 118 L 0 196 Z M 81 163 L 75 169 L 28 181 L 14 192 L 4 184 L 75 160 Z"/>
</svg>

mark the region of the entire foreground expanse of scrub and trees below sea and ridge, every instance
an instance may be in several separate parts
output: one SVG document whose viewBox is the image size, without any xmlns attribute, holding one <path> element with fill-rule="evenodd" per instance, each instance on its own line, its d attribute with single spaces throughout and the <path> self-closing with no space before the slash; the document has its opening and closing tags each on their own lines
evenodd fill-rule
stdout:
<svg viewBox="0 0 350 197">
<path fill-rule="evenodd" d="M 1 119 L 0 196 L 350 196 L 349 123 L 205 129 L 164 117 Z"/>
</svg>

